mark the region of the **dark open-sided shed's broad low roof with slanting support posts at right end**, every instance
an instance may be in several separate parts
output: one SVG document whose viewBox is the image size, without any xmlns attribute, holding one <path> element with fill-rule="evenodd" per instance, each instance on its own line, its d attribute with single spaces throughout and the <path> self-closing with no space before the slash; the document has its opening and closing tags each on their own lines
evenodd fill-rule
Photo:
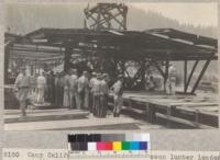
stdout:
<svg viewBox="0 0 220 160">
<path fill-rule="evenodd" d="M 116 75 L 119 72 L 127 72 L 129 75 L 124 64 L 128 60 L 136 61 L 140 64 L 140 68 L 134 77 L 130 77 L 129 85 L 132 85 L 138 79 L 144 81 L 145 70 L 150 66 L 155 66 L 163 76 L 164 82 L 166 82 L 169 61 L 185 61 L 185 93 L 195 93 L 210 61 L 218 59 L 217 39 L 174 28 L 155 28 L 143 32 L 40 28 L 26 34 L 25 38 L 29 39 L 29 43 L 26 43 L 29 45 L 57 47 L 62 53 L 64 52 L 65 70 L 72 66 L 70 59 L 74 54 L 80 54 L 86 57 L 99 57 L 101 59 L 99 64 L 100 70 L 108 71 L 108 69 L 105 70 L 105 67 L 101 66 L 110 64 Z M 19 44 L 24 45 L 22 42 Z M 10 49 L 14 50 L 13 47 Z M 24 47 L 24 49 L 28 48 Z M 21 53 L 23 50 L 18 52 Z M 33 50 L 28 52 L 31 53 Z M 51 53 L 52 57 L 54 53 Z M 189 60 L 194 60 L 195 65 L 188 73 L 187 62 Z M 205 66 L 198 75 L 191 91 L 188 91 L 199 60 L 206 60 Z M 94 61 L 90 60 L 90 62 L 92 64 Z"/>
</svg>

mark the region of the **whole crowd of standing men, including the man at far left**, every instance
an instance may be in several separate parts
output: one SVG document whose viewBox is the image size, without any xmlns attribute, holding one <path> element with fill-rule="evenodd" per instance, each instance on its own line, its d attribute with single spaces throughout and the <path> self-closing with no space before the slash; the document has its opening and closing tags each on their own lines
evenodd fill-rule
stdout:
<svg viewBox="0 0 220 160">
<path fill-rule="evenodd" d="M 112 91 L 114 99 L 113 116 L 119 116 L 122 106 L 123 76 L 109 88 L 109 75 L 84 71 L 78 76 L 77 69 L 54 75 L 41 72 L 31 77 L 25 68 L 15 80 L 15 90 L 20 101 L 22 115 L 25 116 L 26 100 L 29 94 L 36 94 L 36 104 L 45 102 L 54 106 L 88 110 L 96 117 L 106 117 L 108 112 L 109 93 Z"/>
</svg>

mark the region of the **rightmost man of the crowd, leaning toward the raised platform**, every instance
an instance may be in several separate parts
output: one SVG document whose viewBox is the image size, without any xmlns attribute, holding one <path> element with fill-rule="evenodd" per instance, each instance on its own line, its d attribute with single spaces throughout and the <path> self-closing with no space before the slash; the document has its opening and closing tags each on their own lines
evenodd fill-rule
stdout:
<svg viewBox="0 0 220 160">
<path fill-rule="evenodd" d="M 113 116 L 118 117 L 121 113 L 121 107 L 123 105 L 123 75 L 119 75 L 118 81 L 111 87 L 113 91 L 114 108 Z"/>
</svg>

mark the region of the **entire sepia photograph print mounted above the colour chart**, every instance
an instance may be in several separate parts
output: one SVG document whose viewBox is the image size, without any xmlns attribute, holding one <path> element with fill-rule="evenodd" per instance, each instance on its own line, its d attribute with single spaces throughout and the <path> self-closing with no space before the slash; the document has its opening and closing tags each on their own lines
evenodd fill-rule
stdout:
<svg viewBox="0 0 220 160">
<path fill-rule="evenodd" d="M 7 3 L 4 130 L 218 129 L 217 2 Z"/>
</svg>

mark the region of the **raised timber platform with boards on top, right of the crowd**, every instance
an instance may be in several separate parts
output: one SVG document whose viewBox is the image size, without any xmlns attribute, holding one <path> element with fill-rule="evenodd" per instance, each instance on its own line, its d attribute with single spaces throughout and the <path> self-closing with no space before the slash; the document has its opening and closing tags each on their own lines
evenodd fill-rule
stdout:
<svg viewBox="0 0 220 160">
<path fill-rule="evenodd" d="M 148 122 L 155 123 L 157 118 L 170 123 L 179 123 L 195 128 L 218 127 L 218 102 L 217 94 L 198 95 L 165 95 L 161 93 L 125 92 L 125 110 L 132 110 L 145 114 Z"/>
</svg>

